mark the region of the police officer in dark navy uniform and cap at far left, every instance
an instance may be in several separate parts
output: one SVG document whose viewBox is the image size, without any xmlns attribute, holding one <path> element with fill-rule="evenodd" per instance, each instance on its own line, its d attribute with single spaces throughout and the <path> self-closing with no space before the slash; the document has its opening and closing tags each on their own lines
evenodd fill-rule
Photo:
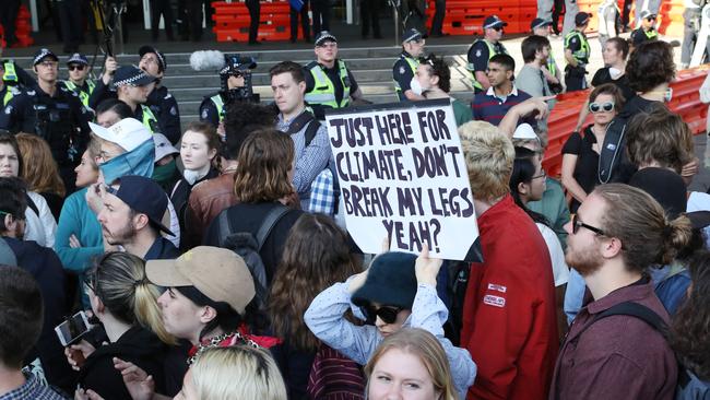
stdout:
<svg viewBox="0 0 710 400">
<path fill-rule="evenodd" d="M 37 84 L 14 96 L 0 113 L 0 129 L 36 133 L 47 141 L 67 191 L 74 188 L 74 167 L 88 140 L 91 113 L 76 93 L 57 80 L 59 59 L 40 49 L 33 60 Z"/>
</svg>

